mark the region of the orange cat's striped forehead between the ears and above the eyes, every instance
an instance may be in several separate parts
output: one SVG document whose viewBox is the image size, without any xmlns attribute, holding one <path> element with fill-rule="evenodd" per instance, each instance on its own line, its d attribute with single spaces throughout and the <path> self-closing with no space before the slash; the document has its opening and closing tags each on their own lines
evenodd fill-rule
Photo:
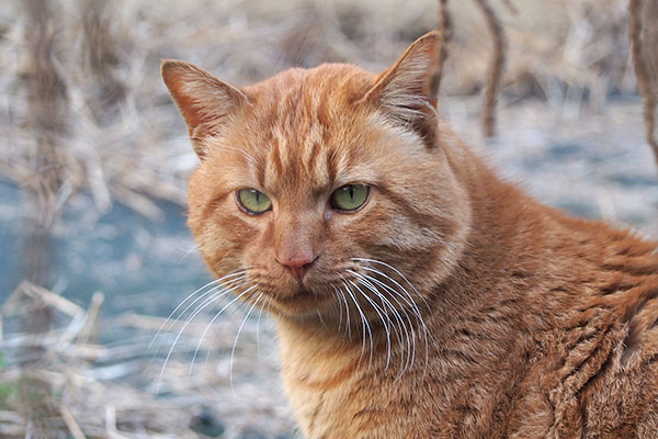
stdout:
<svg viewBox="0 0 658 439">
<path fill-rule="evenodd" d="M 271 191 L 321 191 L 364 179 L 367 113 L 359 100 L 373 76 L 353 66 L 292 69 L 245 89 L 251 109 L 240 148 L 258 184 Z"/>
</svg>

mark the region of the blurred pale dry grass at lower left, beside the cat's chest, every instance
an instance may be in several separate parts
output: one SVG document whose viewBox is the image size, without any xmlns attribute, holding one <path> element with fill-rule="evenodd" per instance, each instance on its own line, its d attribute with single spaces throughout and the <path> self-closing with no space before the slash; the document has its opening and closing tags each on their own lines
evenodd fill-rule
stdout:
<svg viewBox="0 0 658 439">
<path fill-rule="evenodd" d="M 54 327 L 13 333 L 12 323 L 29 315 L 35 300 L 56 316 Z M 225 317 L 205 334 L 207 317 L 190 324 L 138 315 L 101 322 L 102 302 L 102 295 L 95 295 L 83 309 L 24 282 L 2 305 L 0 437 L 197 438 L 205 437 L 204 427 L 208 436 L 224 430 L 222 437 L 241 437 L 254 429 L 272 437 L 294 434 L 277 385 L 266 380 L 277 362 L 266 322 L 245 325 L 231 361 L 236 333 L 224 326 L 237 329 L 241 313 Z M 104 328 L 106 336 L 109 327 L 132 336 L 120 344 L 99 342 L 98 331 Z M 22 367 L 34 360 L 36 351 L 37 361 Z M 226 397 L 227 389 L 232 389 L 232 397 Z"/>
</svg>

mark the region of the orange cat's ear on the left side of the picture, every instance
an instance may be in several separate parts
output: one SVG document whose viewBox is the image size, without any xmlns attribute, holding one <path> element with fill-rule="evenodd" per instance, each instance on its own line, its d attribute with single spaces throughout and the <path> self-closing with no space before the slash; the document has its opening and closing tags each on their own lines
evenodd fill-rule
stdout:
<svg viewBox="0 0 658 439">
<path fill-rule="evenodd" d="M 248 103 L 240 90 L 223 82 L 193 64 L 163 59 L 162 80 L 188 124 L 196 155 L 207 151 L 204 139 L 217 133 L 227 115 Z"/>
</svg>

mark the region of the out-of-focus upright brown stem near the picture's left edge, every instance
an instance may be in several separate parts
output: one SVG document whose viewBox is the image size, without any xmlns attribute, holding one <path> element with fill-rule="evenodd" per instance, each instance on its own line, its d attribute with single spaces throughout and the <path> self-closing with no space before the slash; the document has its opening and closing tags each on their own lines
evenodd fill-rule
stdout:
<svg viewBox="0 0 658 439">
<path fill-rule="evenodd" d="M 32 210 L 23 241 L 23 278 L 35 284 L 49 281 L 53 243 L 50 228 L 58 210 L 65 156 L 59 144 L 64 131 L 66 90 L 54 66 L 55 20 L 45 0 L 25 3 L 31 22 L 27 35 L 31 71 L 27 76 L 29 112 L 34 133 L 35 156 L 30 179 L 23 189 Z M 46 306 L 38 307 L 25 319 L 27 331 L 43 331 L 52 316 Z"/>
</svg>

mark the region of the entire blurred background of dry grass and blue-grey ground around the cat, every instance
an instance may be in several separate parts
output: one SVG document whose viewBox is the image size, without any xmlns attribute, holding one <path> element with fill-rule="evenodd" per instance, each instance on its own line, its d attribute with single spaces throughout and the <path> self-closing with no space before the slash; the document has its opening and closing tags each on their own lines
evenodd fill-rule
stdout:
<svg viewBox="0 0 658 439">
<path fill-rule="evenodd" d="M 443 117 L 543 202 L 658 238 L 627 1 L 447 4 Z M 485 7 L 507 42 L 495 136 Z M 297 437 L 266 316 L 183 302 L 212 279 L 160 59 L 238 87 L 327 61 L 379 71 L 439 23 L 439 0 L 2 1 L 0 437 Z"/>
</svg>

